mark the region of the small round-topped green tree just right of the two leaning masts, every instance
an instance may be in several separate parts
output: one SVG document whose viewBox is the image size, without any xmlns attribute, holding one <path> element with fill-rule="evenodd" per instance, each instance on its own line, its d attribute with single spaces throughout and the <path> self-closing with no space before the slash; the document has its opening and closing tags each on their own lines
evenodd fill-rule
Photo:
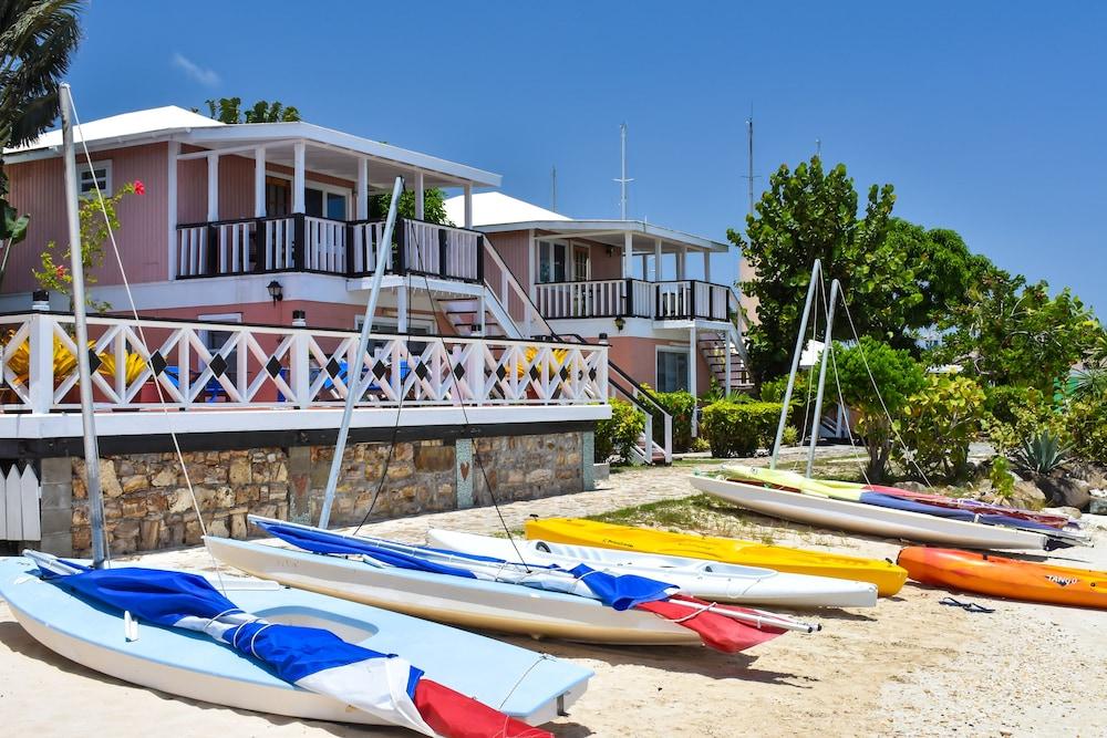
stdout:
<svg viewBox="0 0 1107 738">
<path fill-rule="evenodd" d="M 910 352 L 867 335 L 849 346 L 835 343 L 831 356 L 842 399 L 855 414 L 855 426 L 869 453 L 866 474 L 869 481 L 878 482 L 884 478 L 892 448 L 892 422 L 925 382 L 922 365 Z"/>
</svg>

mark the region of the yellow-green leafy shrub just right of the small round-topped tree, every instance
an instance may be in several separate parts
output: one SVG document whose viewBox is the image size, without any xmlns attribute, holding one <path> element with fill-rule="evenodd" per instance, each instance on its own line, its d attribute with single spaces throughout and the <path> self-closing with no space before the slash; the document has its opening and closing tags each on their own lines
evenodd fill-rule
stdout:
<svg viewBox="0 0 1107 738">
<path fill-rule="evenodd" d="M 970 471 L 969 443 L 984 420 L 984 392 L 966 377 L 930 375 L 922 389 L 908 397 L 896 420 L 903 445 L 894 456 L 909 472 L 946 481 L 964 480 Z"/>
</svg>

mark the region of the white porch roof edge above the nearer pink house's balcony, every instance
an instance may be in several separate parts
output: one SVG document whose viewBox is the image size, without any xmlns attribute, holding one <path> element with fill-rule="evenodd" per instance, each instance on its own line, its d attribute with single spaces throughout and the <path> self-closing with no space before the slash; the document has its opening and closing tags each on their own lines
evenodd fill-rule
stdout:
<svg viewBox="0 0 1107 738">
<path fill-rule="evenodd" d="M 492 171 L 303 122 L 244 123 L 232 126 L 194 128 L 187 133 L 178 134 L 174 138 L 182 143 L 201 146 L 215 143 L 246 144 L 249 142 L 303 139 L 309 143 L 325 144 L 348 149 L 354 154 L 363 154 L 434 171 L 479 187 L 499 187 L 503 181 L 500 175 Z"/>
</svg>

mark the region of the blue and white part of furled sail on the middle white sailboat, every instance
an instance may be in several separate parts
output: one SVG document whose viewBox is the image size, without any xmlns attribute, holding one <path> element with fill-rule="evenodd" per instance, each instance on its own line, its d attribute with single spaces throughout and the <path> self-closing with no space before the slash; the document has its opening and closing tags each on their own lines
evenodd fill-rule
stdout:
<svg viewBox="0 0 1107 738">
<path fill-rule="evenodd" d="M 535 589 L 565 592 L 566 581 L 572 579 L 583 582 L 588 590 L 604 605 L 614 610 L 629 610 L 643 602 L 668 600 L 674 585 L 645 576 L 633 574 L 609 574 L 597 571 L 584 564 L 571 570 L 555 565 L 519 564 L 496 559 L 494 557 L 441 551 L 418 545 L 394 544 L 385 547 L 371 539 L 360 539 L 352 536 L 332 533 L 319 528 L 289 526 L 280 522 L 255 520 L 255 524 L 277 538 L 312 553 L 361 554 L 383 564 L 411 569 L 435 574 L 448 574 L 467 579 L 482 579 L 476 572 L 482 567 L 496 567 L 494 579 L 509 583 L 521 584 Z M 399 548 L 403 551 L 396 550 Z M 423 555 L 421 555 L 423 554 Z M 452 564 L 435 561 L 436 555 L 448 557 Z M 472 561 L 473 569 L 455 565 L 456 561 Z M 513 574 L 515 574 L 513 576 Z M 570 579 L 571 578 L 571 579 Z"/>
</svg>

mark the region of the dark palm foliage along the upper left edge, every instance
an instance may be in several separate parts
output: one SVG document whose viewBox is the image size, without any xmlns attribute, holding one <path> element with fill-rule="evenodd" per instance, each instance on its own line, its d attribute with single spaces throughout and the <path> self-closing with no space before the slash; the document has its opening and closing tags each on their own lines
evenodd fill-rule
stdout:
<svg viewBox="0 0 1107 738">
<path fill-rule="evenodd" d="M 27 237 L 28 216 L 8 202 L 2 150 L 37 138 L 58 117 L 58 84 L 81 41 L 80 0 L 0 3 L 0 282 L 9 250 Z"/>
</svg>

